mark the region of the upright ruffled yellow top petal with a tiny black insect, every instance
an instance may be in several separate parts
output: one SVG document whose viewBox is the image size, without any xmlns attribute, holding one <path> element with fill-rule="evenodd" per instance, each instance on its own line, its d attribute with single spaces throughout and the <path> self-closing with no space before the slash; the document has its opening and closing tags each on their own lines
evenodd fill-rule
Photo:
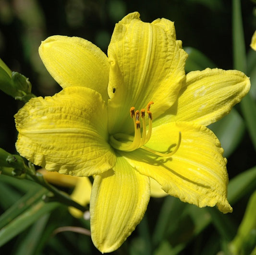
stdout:
<svg viewBox="0 0 256 255">
<path fill-rule="evenodd" d="M 110 61 L 110 133 L 131 133 L 131 107 L 154 101 L 154 118 L 175 102 L 185 79 L 187 53 L 176 41 L 173 22 L 144 23 L 139 13 L 128 14 L 114 29 L 108 50 Z"/>
</svg>

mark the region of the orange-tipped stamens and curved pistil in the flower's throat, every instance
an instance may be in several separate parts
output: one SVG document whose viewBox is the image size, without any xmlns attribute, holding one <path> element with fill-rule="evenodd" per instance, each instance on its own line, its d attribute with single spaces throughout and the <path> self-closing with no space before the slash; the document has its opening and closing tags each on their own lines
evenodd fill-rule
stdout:
<svg viewBox="0 0 256 255">
<path fill-rule="evenodd" d="M 136 110 L 132 107 L 130 109 L 131 118 L 134 121 L 134 136 L 127 134 L 114 134 L 110 136 L 110 145 L 113 146 L 117 150 L 122 151 L 133 151 L 138 148 L 145 149 L 148 152 L 154 153 L 160 157 L 171 157 L 180 147 L 181 144 L 181 133 L 179 133 L 179 140 L 174 150 L 169 153 L 161 153 L 155 150 L 152 150 L 146 146 L 144 146 L 150 139 L 152 134 L 152 112 L 150 111 L 150 106 L 154 104 L 154 102 L 149 102 L 147 104 L 146 110 L 142 109 L 141 111 Z M 146 129 L 146 119 L 145 112 L 148 116 L 148 128 Z M 142 120 L 142 125 L 141 121 Z M 142 126 L 142 127 L 141 127 Z M 142 132 L 141 132 L 142 129 Z"/>
</svg>

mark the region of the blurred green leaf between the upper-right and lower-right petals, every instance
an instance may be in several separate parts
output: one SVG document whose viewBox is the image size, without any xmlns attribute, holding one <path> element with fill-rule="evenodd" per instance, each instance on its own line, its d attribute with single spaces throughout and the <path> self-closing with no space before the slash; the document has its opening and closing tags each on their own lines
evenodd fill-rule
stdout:
<svg viewBox="0 0 256 255">
<path fill-rule="evenodd" d="M 211 124 L 209 128 L 219 138 L 224 148 L 224 157 L 229 157 L 241 142 L 245 125 L 239 113 L 233 108 L 228 115 Z"/>
</svg>

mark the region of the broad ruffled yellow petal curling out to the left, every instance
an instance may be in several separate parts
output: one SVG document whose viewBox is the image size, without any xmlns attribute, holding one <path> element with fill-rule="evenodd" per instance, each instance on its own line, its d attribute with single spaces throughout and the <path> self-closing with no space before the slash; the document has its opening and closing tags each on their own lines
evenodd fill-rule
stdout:
<svg viewBox="0 0 256 255">
<path fill-rule="evenodd" d="M 92 89 L 67 87 L 53 97 L 32 98 L 15 121 L 18 152 L 47 170 L 88 176 L 115 164 L 106 104 Z"/>
</svg>

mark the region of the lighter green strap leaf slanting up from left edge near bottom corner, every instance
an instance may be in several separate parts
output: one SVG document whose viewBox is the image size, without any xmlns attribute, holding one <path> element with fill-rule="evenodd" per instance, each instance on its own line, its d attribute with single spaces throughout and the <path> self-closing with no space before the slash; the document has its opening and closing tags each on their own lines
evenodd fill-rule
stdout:
<svg viewBox="0 0 256 255">
<path fill-rule="evenodd" d="M 59 203 L 45 203 L 39 200 L 30 206 L 17 218 L 0 230 L 0 246 L 10 241 L 14 236 L 20 234 L 27 227 L 33 224 L 41 216 L 49 213 L 59 206 Z"/>
</svg>

